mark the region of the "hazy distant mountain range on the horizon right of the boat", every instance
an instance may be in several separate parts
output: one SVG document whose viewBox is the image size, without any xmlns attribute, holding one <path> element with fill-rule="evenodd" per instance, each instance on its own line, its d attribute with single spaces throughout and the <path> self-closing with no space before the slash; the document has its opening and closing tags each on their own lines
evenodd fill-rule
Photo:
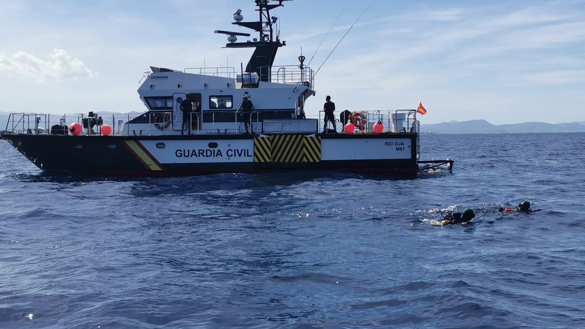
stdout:
<svg viewBox="0 0 585 329">
<path fill-rule="evenodd" d="M 421 124 L 423 133 L 526 133 L 526 132 L 585 132 L 585 121 L 546 124 L 524 122 L 523 124 L 493 125 L 486 120 L 449 121 L 441 124 Z"/>
</svg>

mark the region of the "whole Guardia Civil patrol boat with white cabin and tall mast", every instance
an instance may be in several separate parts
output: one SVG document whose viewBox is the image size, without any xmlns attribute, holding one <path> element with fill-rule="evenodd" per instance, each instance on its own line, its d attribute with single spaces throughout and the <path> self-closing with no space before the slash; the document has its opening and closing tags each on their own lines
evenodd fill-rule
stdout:
<svg viewBox="0 0 585 329">
<path fill-rule="evenodd" d="M 147 108 L 141 115 L 11 114 L 1 138 L 42 170 L 75 174 L 451 170 L 451 160 L 419 160 L 414 109 L 354 111 L 349 125 L 339 124 L 337 131 L 321 131 L 322 112 L 319 119 L 305 118 L 305 104 L 316 94 L 314 71 L 303 56 L 299 64 L 273 65 L 286 42 L 270 12 L 284 1 L 255 0 L 255 22 L 244 21 L 240 10 L 234 14 L 232 24 L 256 31 L 258 38 L 238 42 L 250 34 L 215 31 L 228 35 L 227 48 L 254 49 L 245 68 L 151 67 L 138 89 Z M 242 98 L 252 101 L 254 112 L 238 111 Z"/>
</svg>

